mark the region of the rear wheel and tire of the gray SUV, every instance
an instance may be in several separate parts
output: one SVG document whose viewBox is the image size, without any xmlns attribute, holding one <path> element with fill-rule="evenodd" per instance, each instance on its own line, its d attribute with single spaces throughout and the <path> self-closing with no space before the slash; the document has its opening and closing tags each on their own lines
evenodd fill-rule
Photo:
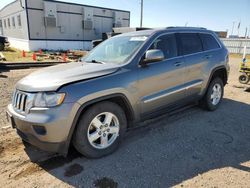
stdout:
<svg viewBox="0 0 250 188">
<path fill-rule="evenodd" d="M 223 98 L 224 84 L 221 78 L 214 78 L 207 89 L 207 92 L 201 100 L 201 106 L 208 111 L 215 111 Z"/>
</svg>

